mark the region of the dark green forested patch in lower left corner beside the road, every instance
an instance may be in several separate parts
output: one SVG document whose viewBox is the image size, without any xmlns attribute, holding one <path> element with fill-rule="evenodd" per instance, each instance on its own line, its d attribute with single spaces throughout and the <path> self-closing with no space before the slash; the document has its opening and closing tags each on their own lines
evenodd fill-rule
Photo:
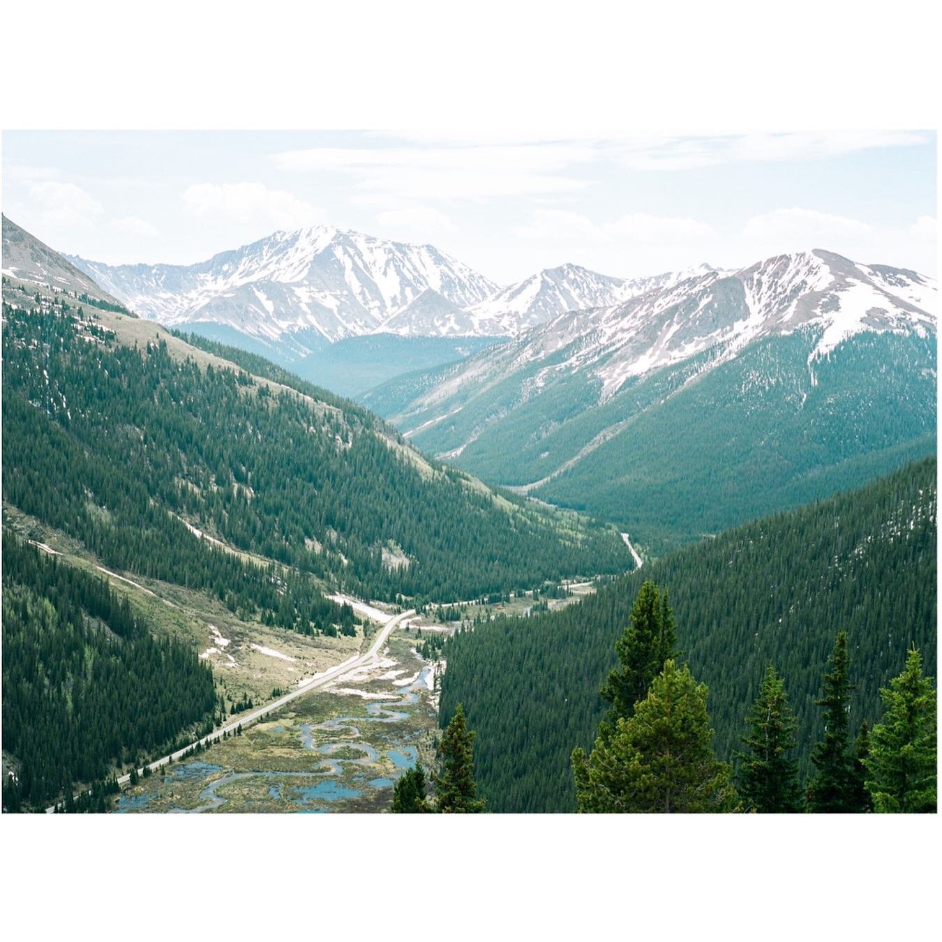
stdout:
<svg viewBox="0 0 942 942">
<path fill-rule="evenodd" d="M 4 804 L 73 786 L 212 728 L 213 675 L 188 645 L 154 638 L 106 579 L 3 534 Z"/>
</svg>

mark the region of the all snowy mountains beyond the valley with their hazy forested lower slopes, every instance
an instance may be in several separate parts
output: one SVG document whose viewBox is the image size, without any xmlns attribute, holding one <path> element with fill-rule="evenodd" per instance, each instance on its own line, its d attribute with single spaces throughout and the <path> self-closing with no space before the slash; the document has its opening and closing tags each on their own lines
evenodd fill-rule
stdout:
<svg viewBox="0 0 942 942">
<path fill-rule="evenodd" d="M 814 250 L 635 280 L 564 265 L 499 288 L 431 246 L 313 227 L 196 266 L 73 257 L 47 275 L 8 229 L 19 273 L 91 277 L 648 554 L 935 447 L 936 287 L 906 268 Z"/>
</svg>

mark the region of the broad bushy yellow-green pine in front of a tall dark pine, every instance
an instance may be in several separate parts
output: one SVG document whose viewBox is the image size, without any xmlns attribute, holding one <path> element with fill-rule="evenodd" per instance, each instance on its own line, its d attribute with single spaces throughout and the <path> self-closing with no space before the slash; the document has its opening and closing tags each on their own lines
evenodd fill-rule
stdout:
<svg viewBox="0 0 942 942">
<path fill-rule="evenodd" d="M 634 715 L 620 718 L 592 755 L 572 755 L 581 812 L 732 811 L 732 770 L 713 751 L 707 685 L 673 659 Z"/>
</svg>

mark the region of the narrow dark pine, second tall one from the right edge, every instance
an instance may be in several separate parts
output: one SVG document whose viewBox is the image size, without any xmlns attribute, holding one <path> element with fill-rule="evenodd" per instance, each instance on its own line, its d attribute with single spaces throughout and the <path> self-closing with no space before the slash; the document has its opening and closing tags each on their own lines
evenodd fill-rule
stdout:
<svg viewBox="0 0 942 942">
<path fill-rule="evenodd" d="M 824 674 L 824 693 L 817 701 L 824 708 L 824 737 L 811 754 L 815 774 L 808 783 L 808 811 L 848 814 L 859 811 L 854 801 L 854 756 L 850 744 L 851 690 L 847 632 L 836 638 Z"/>
</svg>

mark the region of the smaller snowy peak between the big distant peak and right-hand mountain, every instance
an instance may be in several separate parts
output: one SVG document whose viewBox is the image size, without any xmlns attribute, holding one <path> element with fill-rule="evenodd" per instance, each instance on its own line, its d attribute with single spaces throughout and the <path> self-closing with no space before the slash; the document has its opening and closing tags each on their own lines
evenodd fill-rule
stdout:
<svg viewBox="0 0 942 942">
<path fill-rule="evenodd" d="M 653 288 L 675 284 L 693 271 L 713 271 L 707 265 L 689 272 L 666 272 L 652 278 L 612 278 L 579 265 L 544 268 L 470 308 L 468 317 L 481 336 L 512 336 L 571 311 L 610 307 Z"/>
</svg>

